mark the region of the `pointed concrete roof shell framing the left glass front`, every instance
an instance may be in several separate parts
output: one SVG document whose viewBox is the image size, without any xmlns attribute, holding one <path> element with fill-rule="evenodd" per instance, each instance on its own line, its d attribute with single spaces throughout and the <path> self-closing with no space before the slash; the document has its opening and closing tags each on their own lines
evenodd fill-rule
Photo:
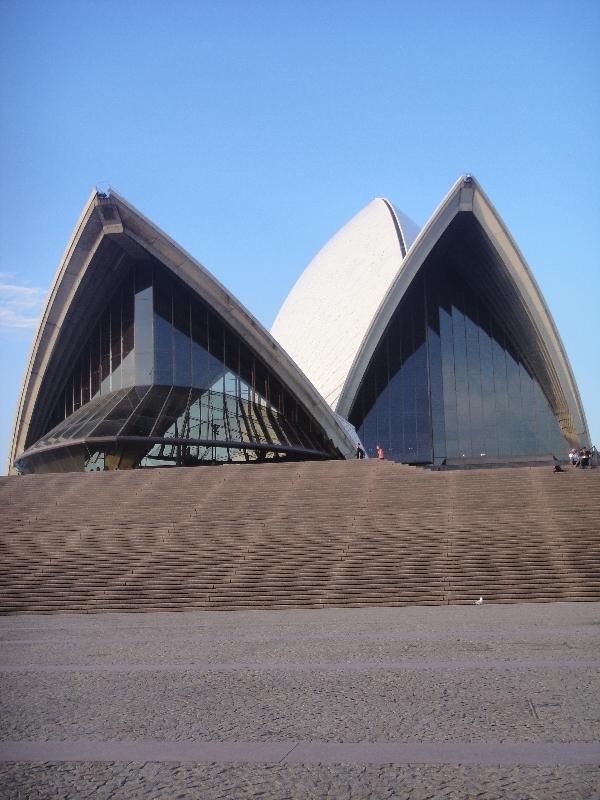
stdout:
<svg viewBox="0 0 600 800">
<path fill-rule="evenodd" d="M 15 459 L 44 432 L 49 398 L 76 357 L 94 309 L 118 280 L 115 255 L 123 251 L 134 256 L 149 253 L 200 295 L 279 377 L 339 452 L 354 452 L 352 437 L 260 322 L 192 256 L 111 191 L 91 194 L 50 289 L 19 398 L 11 470 Z"/>
</svg>

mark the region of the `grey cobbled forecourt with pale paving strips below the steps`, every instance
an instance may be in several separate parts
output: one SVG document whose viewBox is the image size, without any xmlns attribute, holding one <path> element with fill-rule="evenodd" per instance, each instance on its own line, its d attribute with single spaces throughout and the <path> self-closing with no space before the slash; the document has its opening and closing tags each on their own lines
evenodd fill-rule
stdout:
<svg viewBox="0 0 600 800">
<path fill-rule="evenodd" d="M 600 604 L 0 618 L 2 798 L 600 798 Z"/>
</svg>

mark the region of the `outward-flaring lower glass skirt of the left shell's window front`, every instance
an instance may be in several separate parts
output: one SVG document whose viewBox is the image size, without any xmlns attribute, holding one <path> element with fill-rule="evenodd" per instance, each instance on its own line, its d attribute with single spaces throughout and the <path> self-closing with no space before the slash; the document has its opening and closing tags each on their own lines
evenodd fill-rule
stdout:
<svg viewBox="0 0 600 800">
<path fill-rule="evenodd" d="M 74 453 L 81 470 L 334 455 L 318 433 L 265 403 L 182 386 L 134 386 L 98 397 L 42 436 L 16 465 L 38 472 L 44 461 L 64 465 Z"/>
</svg>

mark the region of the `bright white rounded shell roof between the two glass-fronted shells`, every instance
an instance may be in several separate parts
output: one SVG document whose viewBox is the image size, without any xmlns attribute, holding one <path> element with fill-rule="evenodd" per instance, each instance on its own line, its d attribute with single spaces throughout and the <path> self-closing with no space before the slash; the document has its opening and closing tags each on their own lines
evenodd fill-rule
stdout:
<svg viewBox="0 0 600 800">
<path fill-rule="evenodd" d="M 372 200 L 317 253 L 279 310 L 271 334 L 332 408 L 418 232 L 388 200 Z"/>
</svg>

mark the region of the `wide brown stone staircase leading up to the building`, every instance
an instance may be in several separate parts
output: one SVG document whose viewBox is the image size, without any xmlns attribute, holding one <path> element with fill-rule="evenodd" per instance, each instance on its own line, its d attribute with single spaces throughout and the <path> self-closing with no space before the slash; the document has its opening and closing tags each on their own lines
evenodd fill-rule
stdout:
<svg viewBox="0 0 600 800">
<path fill-rule="evenodd" d="M 0 478 L 0 613 L 600 600 L 600 469 Z"/>
</svg>

